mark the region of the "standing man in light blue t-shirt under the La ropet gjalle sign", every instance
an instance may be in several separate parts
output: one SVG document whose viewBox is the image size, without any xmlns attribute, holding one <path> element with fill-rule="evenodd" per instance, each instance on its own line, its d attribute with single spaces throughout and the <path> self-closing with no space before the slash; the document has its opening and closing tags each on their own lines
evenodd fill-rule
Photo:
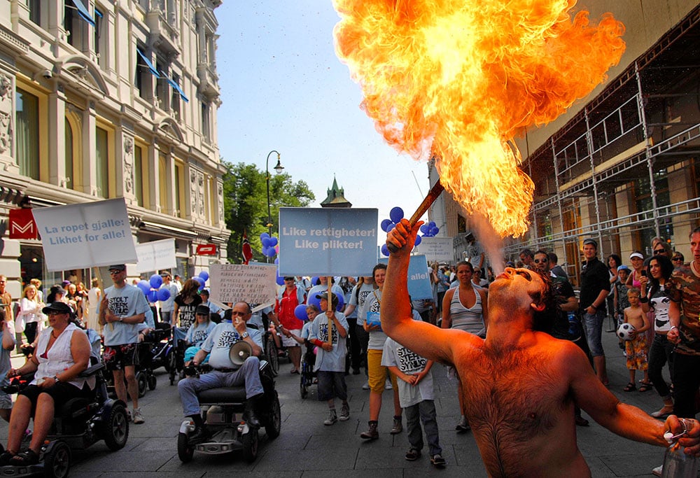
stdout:
<svg viewBox="0 0 700 478">
<path fill-rule="evenodd" d="M 139 324 L 146 320 L 151 307 L 138 287 L 127 284 L 127 267 L 109 266 L 113 286 L 104 290 L 99 308 L 99 323 L 103 325 L 104 363 L 112 371 L 117 398 L 127 403 L 127 391 L 134 406 L 135 424 L 144 423 L 139 408 L 139 385 L 136 381 Z M 124 386 L 124 379 L 127 386 Z"/>
</svg>

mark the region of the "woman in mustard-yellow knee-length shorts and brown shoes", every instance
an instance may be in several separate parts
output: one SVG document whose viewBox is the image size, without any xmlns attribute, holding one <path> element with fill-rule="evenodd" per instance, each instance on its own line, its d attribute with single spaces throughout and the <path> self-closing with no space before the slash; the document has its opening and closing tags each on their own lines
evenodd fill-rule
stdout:
<svg viewBox="0 0 700 478">
<path fill-rule="evenodd" d="M 398 384 L 394 374 L 388 371 L 388 367 L 381 365 L 381 354 L 384 351 L 386 334 L 381 330 L 379 309 L 381 307 L 381 293 L 384 290 L 384 279 L 386 278 L 386 265 L 377 264 L 372 269 L 374 284 L 377 286 L 370 295 L 367 295 L 365 306 L 362 309 L 362 320 L 365 332 L 370 335 L 370 342 L 367 345 L 367 372 L 370 382 L 370 428 L 360 434 L 363 440 L 377 440 L 379 432 L 377 424 L 379 422 L 379 410 L 381 410 L 381 393 L 384 392 L 386 374 L 391 375 L 393 386 L 394 417 L 391 435 L 401 433 L 401 405 L 398 398 Z"/>
</svg>

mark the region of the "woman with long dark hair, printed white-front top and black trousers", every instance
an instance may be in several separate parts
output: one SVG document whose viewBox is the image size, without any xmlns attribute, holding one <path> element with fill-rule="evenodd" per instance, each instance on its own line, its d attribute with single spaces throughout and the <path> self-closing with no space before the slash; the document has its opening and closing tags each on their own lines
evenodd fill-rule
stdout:
<svg viewBox="0 0 700 478">
<path fill-rule="evenodd" d="M 666 385 L 666 380 L 661 375 L 661 370 L 668 363 L 668 371 L 671 374 L 671 382 L 673 382 L 673 347 L 674 344 L 666 339 L 668 331 L 671 330 L 671 321 L 669 314 L 680 314 L 678 302 L 671 300 L 671 295 L 668 293 L 668 286 L 671 274 L 673 273 L 673 264 L 665 255 L 654 255 L 650 258 L 647 265 L 647 275 L 640 278 L 641 291 L 643 299 L 640 300 L 642 310 L 645 312 L 652 311 L 654 323 L 654 339 L 649 350 L 649 379 L 652 382 L 657 393 L 664 400 L 664 407 L 661 407 L 657 412 L 651 415 L 655 418 L 661 418 L 673 412 L 673 398 L 671 391 Z M 647 289 L 648 288 L 648 289 Z M 648 291 L 647 291 L 648 290 Z M 640 391 L 650 389 L 650 384 L 642 384 Z"/>
</svg>

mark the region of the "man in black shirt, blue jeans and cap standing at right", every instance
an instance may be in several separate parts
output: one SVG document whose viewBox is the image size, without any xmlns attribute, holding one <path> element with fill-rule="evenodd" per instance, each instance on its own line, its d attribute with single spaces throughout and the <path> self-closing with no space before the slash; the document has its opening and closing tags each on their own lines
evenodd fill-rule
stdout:
<svg viewBox="0 0 700 478">
<path fill-rule="evenodd" d="M 588 346 L 593 356 L 596 375 L 604 385 L 608 385 L 608 371 L 605 370 L 603 352 L 603 321 L 605 320 L 605 297 L 610 293 L 610 272 L 598 260 L 598 243 L 593 239 L 583 241 L 584 261 L 581 270 L 580 310 L 586 329 Z"/>
</svg>

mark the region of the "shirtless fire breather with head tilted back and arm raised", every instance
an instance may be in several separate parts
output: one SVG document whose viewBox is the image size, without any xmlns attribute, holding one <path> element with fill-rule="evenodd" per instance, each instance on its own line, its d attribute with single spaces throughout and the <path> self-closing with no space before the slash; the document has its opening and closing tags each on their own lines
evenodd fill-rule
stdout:
<svg viewBox="0 0 700 478">
<path fill-rule="evenodd" d="M 398 252 L 389 256 L 381 327 L 420 356 L 454 364 L 489 475 L 590 477 L 576 444 L 575 403 L 605 428 L 638 442 L 667 447 L 664 432 L 682 432 L 676 416 L 664 423 L 619 402 L 575 344 L 535 330 L 552 303 L 548 278 L 536 272 L 509 267 L 491 283 L 485 340 L 413 321 L 407 272 L 420 225 L 411 228 L 404 219 L 386 239 Z M 680 444 L 700 455 L 700 423 L 684 420 L 688 433 Z"/>
</svg>

